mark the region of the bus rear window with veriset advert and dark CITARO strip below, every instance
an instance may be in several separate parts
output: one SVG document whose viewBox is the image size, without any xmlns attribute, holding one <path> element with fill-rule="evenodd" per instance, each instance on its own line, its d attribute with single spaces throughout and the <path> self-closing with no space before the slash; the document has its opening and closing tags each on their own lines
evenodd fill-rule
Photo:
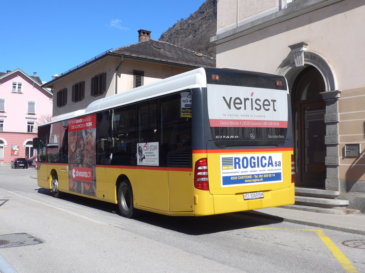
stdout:
<svg viewBox="0 0 365 273">
<path fill-rule="evenodd" d="M 286 90 L 208 84 L 207 96 L 214 140 L 286 139 Z"/>
</svg>

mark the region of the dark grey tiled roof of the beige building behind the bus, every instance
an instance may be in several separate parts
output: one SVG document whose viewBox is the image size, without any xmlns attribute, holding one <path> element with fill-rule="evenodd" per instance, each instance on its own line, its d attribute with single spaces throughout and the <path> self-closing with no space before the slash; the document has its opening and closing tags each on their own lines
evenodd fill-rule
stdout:
<svg viewBox="0 0 365 273">
<path fill-rule="evenodd" d="M 152 39 L 116 48 L 109 51 L 109 53 L 192 67 L 215 67 L 216 61 L 215 58 L 199 54 L 198 52 Z"/>
</svg>

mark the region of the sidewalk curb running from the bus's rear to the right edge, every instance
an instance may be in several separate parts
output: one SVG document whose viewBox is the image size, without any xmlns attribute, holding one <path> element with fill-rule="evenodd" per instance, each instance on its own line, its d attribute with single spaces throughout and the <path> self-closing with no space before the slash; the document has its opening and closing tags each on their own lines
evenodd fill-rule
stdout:
<svg viewBox="0 0 365 273">
<path fill-rule="evenodd" d="M 300 224 L 300 225 L 319 227 L 321 229 L 331 229 L 331 230 L 337 230 L 337 231 L 342 231 L 342 232 L 347 232 L 347 233 L 365 235 L 365 230 L 360 230 L 360 229 L 350 229 L 347 227 L 325 225 L 325 224 L 315 223 L 315 222 L 310 222 L 310 221 L 283 218 L 283 217 L 276 216 L 276 215 L 269 215 L 269 214 L 265 215 L 265 214 L 259 213 L 257 211 L 251 211 L 250 213 L 254 214 L 257 217 L 266 218 L 266 219 L 273 219 L 273 220 L 283 221 L 283 222 L 288 222 L 288 223 L 295 223 L 295 224 Z"/>
</svg>

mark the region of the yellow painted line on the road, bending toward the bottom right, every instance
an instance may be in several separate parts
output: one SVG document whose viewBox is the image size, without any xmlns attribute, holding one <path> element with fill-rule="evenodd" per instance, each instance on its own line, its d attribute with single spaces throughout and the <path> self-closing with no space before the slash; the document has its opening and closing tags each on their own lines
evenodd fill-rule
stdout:
<svg viewBox="0 0 365 273">
<path fill-rule="evenodd" d="M 247 229 L 262 229 L 262 230 L 300 230 L 300 231 L 314 231 L 318 237 L 324 242 L 327 248 L 331 251 L 333 256 L 341 264 L 342 268 L 346 270 L 347 273 L 357 273 L 356 268 L 351 264 L 350 260 L 342 253 L 342 251 L 331 241 L 330 238 L 321 229 L 277 229 L 272 227 L 248 227 Z"/>
</svg>

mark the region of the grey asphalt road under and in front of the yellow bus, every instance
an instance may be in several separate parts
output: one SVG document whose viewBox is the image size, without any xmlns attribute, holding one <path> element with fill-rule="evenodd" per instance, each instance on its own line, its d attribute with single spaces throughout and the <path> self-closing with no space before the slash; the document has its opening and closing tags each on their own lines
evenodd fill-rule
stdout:
<svg viewBox="0 0 365 273">
<path fill-rule="evenodd" d="M 365 272 L 364 236 L 257 217 L 144 213 L 65 194 L 0 167 L 0 254 L 28 272 Z"/>
</svg>

